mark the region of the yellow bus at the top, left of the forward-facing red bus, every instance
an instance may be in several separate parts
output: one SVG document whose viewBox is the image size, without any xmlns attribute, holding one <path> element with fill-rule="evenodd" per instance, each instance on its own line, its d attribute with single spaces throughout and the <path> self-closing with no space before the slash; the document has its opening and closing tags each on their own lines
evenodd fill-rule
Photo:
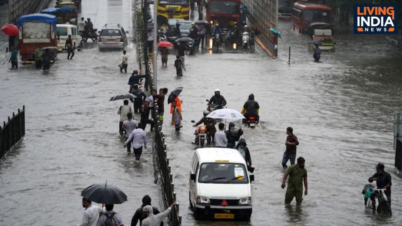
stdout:
<svg viewBox="0 0 402 226">
<path fill-rule="evenodd" d="M 189 0 L 158 0 L 158 15 L 167 19 L 179 18 L 189 20 Z"/>
</svg>

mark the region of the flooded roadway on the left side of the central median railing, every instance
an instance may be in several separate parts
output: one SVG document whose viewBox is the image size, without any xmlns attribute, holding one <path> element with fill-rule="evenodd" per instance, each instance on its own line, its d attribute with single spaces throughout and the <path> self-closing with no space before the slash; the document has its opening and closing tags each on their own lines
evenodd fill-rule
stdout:
<svg viewBox="0 0 402 226">
<path fill-rule="evenodd" d="M 91 17 L 96 28 L 120 23 L 131 36 L 130 1 L 82 4 L 82 16 Z M 135 46 L 130 44 L 127 50 L 132 71 L 137 68 Z M 0 225 L 79 224 L 82 189 L 105 181 L 128 196 L 127 202 L 115 206 L 125 225 L 130 225 L 144 195 L 159 206 L 152 142 L 140 162 L 127 154 L 116 114 L 123 101 L 109 102 L 128 90 L 130 74 L 121 74 L 117 67 L 121 55 L 121 51 L 99 52 L 89 43 L 88 49 L 76 51 L 74 60 L 59 54 L 48 72 L 21 62 L 18 71 L 10 70 L 9 64 L 1 66 L 0 119 L 25 105 L 27 131 L 21 147 L 0 162 Z M 151 133 L 148 138 L 152 139 Z"/>
</svg>

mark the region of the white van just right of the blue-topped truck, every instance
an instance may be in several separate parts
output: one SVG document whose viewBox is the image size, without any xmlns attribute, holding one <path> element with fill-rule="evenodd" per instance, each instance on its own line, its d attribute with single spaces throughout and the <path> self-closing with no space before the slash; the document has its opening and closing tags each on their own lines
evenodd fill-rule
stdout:
<svg viewBox="0 0 402 226">
<path fill-rule="evenodd" d="M 71 39 L 73 39 L 73 45 L 75 43 L 76 49 L 80 51 L 82 49 L 82 37 L 78 32 L 78 27 L 76 25 L 69 24 L 57 24 L 56 25 L 56 34 L 57 34 L 57 47 L 59 51 L 63 51 L 66 45 L 66 41 L 68 39 L 68 35 L 71 35 Z"/>
</svg>

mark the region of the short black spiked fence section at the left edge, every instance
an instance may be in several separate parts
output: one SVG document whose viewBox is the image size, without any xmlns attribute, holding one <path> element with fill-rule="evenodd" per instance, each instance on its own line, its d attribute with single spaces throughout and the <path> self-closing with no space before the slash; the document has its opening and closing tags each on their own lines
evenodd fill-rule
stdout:
<svg viewBox="0 0 402 226">
<path fill-rule="evenodd" d="M 25 135 L 25 106 L 12 117 L 8 117 L 7 122 L 3 122 L 3 127 L 0 126 L 0 159 L 12 150 L 18 141 Z"/>
</svg>

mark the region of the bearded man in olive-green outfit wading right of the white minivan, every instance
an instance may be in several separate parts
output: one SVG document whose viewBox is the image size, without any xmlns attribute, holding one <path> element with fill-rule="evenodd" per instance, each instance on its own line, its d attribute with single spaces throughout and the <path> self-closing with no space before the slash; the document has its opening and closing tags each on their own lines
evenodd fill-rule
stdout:
<svg viewBox="0 0 402 226">
<path fill-rule="evenodd" d="M 307 195 L 307 171 L 304 168 L 304 160 L 303 157 L 297 158 L 297 164 L 290 166 L 287 168 L 285 174 L 282 179 L 282 189 L 285 188 L 285 181 L 288 175 L 289 181 L 287 182 L 287 190 L 285 195 L 285 204 L 289 204 L 293 197 L 296 197 L 296 204 L 300 205 L 303 200 L 303 181 L 304 181 L 304 195 Z"/>
</svg>

